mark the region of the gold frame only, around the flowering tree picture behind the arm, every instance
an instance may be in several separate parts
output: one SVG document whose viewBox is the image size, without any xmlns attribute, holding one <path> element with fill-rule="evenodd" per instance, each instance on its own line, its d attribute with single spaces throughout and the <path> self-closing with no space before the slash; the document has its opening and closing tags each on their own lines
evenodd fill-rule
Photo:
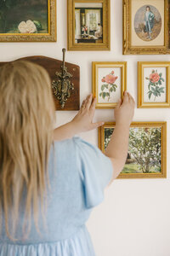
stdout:
<svg viewBox="0 0 170 256">
<path fill-rule="evenodd" d="M 114 128 L 116 123 L 108 122 L 99 127 L 99 148 L 105 153 L 105 128 Z M 161 173 L 121 173 L 117 178 L 166 178 L 167 177 L 167 122 L 133 122 L 131 127 L 161 127 Z"/>
</svg>

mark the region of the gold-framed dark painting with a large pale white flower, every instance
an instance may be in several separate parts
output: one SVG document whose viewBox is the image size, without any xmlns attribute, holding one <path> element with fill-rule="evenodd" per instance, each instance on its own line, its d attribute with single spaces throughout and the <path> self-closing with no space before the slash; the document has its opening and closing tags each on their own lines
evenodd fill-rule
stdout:
<svg viewBox="0 0 170 256">
<path fill-rule="evenodd" d="M 56 0 L 0 1 L 0 42 L 56 42 Z"/>
</svg>

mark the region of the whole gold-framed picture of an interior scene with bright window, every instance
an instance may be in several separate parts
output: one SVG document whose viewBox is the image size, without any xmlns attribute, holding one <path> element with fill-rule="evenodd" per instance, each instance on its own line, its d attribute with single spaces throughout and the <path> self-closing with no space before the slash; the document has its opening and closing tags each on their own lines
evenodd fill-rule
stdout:
<svg viewBox="0 0 170 256">
<path fill-rule="evenodd" d="M 110 0 L 67 0 L 68 50 L 111 49 Z"/>
</svg>

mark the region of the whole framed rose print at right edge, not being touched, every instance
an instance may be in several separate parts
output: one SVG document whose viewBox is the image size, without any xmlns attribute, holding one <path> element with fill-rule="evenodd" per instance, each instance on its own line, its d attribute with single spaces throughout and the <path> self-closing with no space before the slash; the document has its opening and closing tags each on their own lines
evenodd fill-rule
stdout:
<svg viewBox="0 0 170 256">
<path fill-rule="evenodd" d="M 170 108 L 170 62 L 138 62 L 138 108 Z"/>
</svg>

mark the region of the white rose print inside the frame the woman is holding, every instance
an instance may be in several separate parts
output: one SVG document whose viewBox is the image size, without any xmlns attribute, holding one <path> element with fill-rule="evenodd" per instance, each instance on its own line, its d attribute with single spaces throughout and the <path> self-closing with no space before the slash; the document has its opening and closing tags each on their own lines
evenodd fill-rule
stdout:
<svg viewBox="0 0 170 256">
<path fill-rule="evenodd" d="M 116 103 L 121 98 L 121 67 L 99 67 L 98 102 Z"/>
</svg>

